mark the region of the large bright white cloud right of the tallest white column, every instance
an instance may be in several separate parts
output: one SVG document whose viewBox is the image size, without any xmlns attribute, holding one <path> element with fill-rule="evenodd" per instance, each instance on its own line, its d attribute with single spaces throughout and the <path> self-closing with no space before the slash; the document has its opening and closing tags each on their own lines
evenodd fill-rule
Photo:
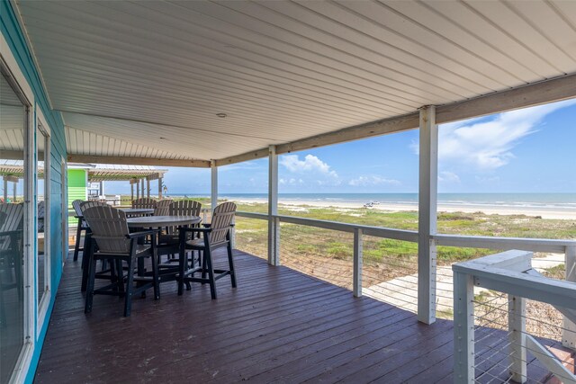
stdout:
<svg viewBox="0 0 576 384">
<path fill-rule="evenodd" d="M 549 113 L 574 103 L 572 99 L 503 112 L 489 119 L 444 124 L 438 132 L 438 156 L 445 162 L 472 165 L 482 171 L 507 165 L 515 157 L 512 149 L 521 138 L 536 132 L 538 123 Z M 410 144 L 410 149 L 418 154 L 418 143 Z"/>
</svg>

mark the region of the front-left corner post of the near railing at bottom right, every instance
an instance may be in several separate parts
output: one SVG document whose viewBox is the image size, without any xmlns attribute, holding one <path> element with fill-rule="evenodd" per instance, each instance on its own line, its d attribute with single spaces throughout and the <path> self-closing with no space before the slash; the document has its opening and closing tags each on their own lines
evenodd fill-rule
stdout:
<svg viewBox="0 0 576 384">
<path fill-rule="evenodd" d="M 474 382 L 473 277 L 454 272 L 454 382 Z"/>
</svg>

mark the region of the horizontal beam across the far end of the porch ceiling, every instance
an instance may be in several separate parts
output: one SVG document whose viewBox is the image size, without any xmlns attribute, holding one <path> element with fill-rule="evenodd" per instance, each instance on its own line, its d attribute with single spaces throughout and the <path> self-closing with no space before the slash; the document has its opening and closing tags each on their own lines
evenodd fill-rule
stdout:
<svg viewBox="0 0 576 384">
<path fill-rule="evenodd" d="M 193 168 L 210 168 L 211 164 L 209 160 L 198 160 L 198 159 L 177 160 L 177 159 L 159 158 L 159 157 L 93 156 L 93 155 L 68 155 L 67 161 L 68 163 L 188 166 Z"/>
</svg>

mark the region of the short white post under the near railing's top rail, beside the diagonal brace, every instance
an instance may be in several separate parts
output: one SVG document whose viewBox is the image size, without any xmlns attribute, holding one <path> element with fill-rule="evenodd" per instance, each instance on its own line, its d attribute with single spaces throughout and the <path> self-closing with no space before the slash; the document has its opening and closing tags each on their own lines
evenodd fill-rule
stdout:
<svg viewBox="0 0 576 384">
<path fill-rule="evenodd" d="M 526 300 L 513 295 L 509 295 L 508 298 L 510 375 L 512 380 L 525 383 L 527 381 Z"/>
</svg>

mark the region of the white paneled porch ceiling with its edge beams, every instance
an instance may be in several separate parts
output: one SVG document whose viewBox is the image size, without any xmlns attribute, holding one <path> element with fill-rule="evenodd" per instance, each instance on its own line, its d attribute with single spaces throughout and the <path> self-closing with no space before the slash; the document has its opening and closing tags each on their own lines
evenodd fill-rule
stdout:
<svg viewBox="0 0 576 384">
<path fill-rule="evenodd" d="M 17 1 L 70 161 L 210 166 L 576 96 L 576 2 Z M 226 117 L 219 117 L 223 113 Z"/>
</svg>

